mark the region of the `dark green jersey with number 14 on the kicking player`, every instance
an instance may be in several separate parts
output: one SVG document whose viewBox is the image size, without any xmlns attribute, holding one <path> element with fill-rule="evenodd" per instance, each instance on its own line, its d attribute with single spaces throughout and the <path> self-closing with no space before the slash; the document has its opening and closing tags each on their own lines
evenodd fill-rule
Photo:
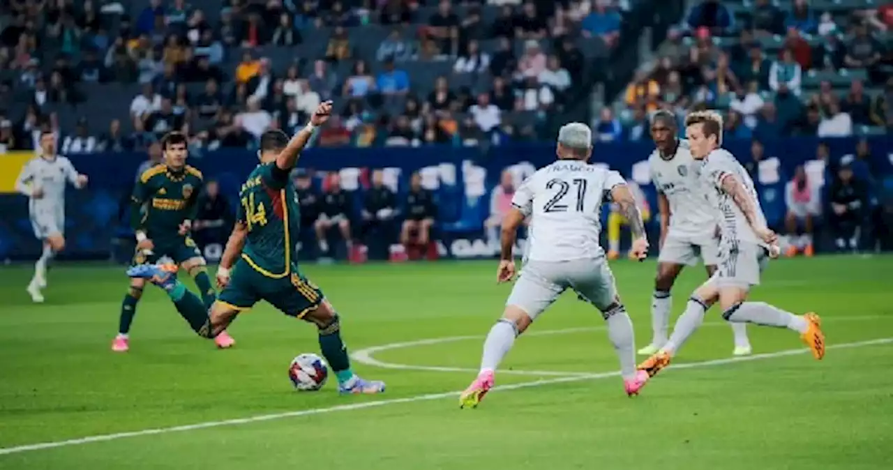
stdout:
<svg viewBox="0 0 893 470">
<path fill-rule="evenodd" d="M 291 274 L 300 229 L 295 186 L 288 171 L 262 163 L 239 191 L 237 219 L 248 230 L 242 259 L 263 276 Z"/>
</svg>

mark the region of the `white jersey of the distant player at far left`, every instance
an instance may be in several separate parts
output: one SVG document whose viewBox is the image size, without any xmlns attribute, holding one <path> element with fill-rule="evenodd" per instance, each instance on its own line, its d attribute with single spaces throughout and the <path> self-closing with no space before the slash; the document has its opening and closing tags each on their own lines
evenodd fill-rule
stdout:
<svg viewBox="0 0 893 470">
<path fill-rule="evenodd" d="M 67 158 L 57 156 L 53 160 L 46 160 L 35 157 L 21 169 L 19 178 L 15 181 L 15 189 L 29 196 L 29 210 L 31 214 L 35 214 L 65 207 L 65 185 L 75 185 L 77 181 L 78 172 Z M 37 199 L 31 197 L 36 188 L 44 193 Z"/>
</svg>

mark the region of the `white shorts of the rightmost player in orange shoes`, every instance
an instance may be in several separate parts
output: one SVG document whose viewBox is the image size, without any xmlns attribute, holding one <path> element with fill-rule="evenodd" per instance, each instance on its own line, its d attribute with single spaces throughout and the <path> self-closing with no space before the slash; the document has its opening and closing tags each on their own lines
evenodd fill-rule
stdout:
<svg viewBox="0 0 893 470">
<path fill-rule="evenodd" d="M 760 284 L 760 274 L 769 264 L 769 253 L 756 243 L 736 240 L 723 241 L 720 246 L 720 263 L 707 282 L 717 287 L 741 287 L 749 289 Z"/>
</svg>

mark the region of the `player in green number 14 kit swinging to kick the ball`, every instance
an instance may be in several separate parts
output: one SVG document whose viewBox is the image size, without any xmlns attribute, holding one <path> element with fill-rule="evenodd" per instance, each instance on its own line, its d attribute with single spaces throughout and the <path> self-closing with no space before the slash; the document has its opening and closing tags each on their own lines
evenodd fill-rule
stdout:
<svg viewBox="0 0 893 470">
<path fill-rule="evenodd" d="M 209 313 L 202 301 L 172 276 L 175 267 L 144 264 L 128 275 L 149 279 L 170 295 L 183 317 L 201 336 L 213 338 L 230 325 L 239 312 L 267 301 L 289 317 L 313 323 L 319 330 L 322 355 L 338 377 L 341 393 L 380 393 L 385 384 L 364 380 L 350 367 L 341 340 L 338 313 L 298 269 L 295 260 L 300 222 L 294 183 L 288 177 L 315 128 L 329 119 L 331 102 L 321 103 L 310 124 L 291 140 L 280 130 L 261 136 L 261 163 L 239 192 L 236 227 L 223 251 L 217 280 L 223 286 Z"/>
</svg>

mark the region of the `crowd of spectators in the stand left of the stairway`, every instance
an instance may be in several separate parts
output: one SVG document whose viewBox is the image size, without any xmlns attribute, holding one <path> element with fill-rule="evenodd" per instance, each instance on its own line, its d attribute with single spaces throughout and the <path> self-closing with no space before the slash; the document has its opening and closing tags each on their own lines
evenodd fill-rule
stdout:
<svg viewBox="0 0 893 470">
<path fill-rule="evenodd" d="M 505 115 L 542 118 L 591 87 L 577 40 L 616 45 L 620 9 L 613 0 L 494 1 L 499 13 L 485 24 L 484 4 L 223 0 L 219 12 L 208 12 L 186 0 L 150 0 L 131 15 L 116 0 L 11 0 L 0 71 L 13 73 L 4 75 L 0 95 L 5 102 L 13 91 L 28 94 L 29 103 L 22 115 L 0 111 L 0 146 L 34 148 L 36 133 L 49 128 L 66 153 L 141 150 L 171 130 L 187 133 L 194 148 L 250 147 L 266 128 L 300 126 L 327 99 L 343 111 L 321 132 L 323 146 L 538 139 L 535 120 L 515 128 Z M 425 17 L 430 10 L 422 6 L 435 5 Z M 394 29 L 375 54 L 363 56 L 362 34 L 350 33 L 370 23 Z M 328 45 L 306 63 L 271 63 L 263 54 L 270 45 L 300 48 L 321 30 L 331 31 Z M 485 52 L 481 42 L 492 39 L 499 46 Z M 230 54 L 239 52 L 241 62 L 229 67 Z M 404 67 L 413 61 L 452 62 L 453 72 L 418 95 Z M 344 63 L 351 71 L 339 76 Z M 457 75 L 481 79 L 459 87 Z M 104 132 L 87 121 L 103 100 L 101 92 L 83 91 L 95 83 L 142 87 L 129 112 L 101 124 Z M 78 106 L 76 128 L 59 128 L 60 105 Z"/>
</svg>

